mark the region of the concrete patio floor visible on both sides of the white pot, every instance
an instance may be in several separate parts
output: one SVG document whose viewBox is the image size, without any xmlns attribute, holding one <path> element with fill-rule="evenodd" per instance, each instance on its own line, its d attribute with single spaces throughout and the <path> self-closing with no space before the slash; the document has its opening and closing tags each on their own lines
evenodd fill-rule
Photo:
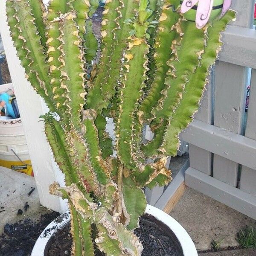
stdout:
<svg viewBox="0 0 256 256">
<path fill-rule="evenodd" d="M 0 167 L 0 234 L 6 223 L 24 218 L 38 219 L 49 210 L 41 207 L 33 177 Z M 24 205 L 29 208 L 25 212 Z M 1 208 L 4 207 L 4 208 Z M 18 209 L 23 210 L 17 215 Z M 2 210 L 5 210 L 1 212 Z M 236 233 L 248 226 L 256 227 L 256 221 L 217 201 L 186 188 L 176 207 L 170 213 L 187 230 L 198 251 L 211 248 L 211 241 L 221 241 L 221 247 L 237 246 Z M 255 250 L 232 250 L 218 253 L 200 253 L 199 256 L 256 256 Z"/>
</svg>

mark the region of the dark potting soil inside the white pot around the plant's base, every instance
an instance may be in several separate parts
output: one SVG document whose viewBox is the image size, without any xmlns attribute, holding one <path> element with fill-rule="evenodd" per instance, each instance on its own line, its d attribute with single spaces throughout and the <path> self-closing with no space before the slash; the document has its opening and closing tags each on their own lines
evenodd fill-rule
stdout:
<svg viewBox="0 0 256 256">
<path fill-rule="evenodd" d="M 181 246 L 172 231 L 151 215 L 140 218 L 140 227 L 134 233 L 143 243 L 142 256 L 183 256 Z M 70 224 L 58 230 L 49 242 L 47 256 L 70 256 L 72 238 Z M 96 256 L 105 256 L 98 251 Z"/>
</svg>

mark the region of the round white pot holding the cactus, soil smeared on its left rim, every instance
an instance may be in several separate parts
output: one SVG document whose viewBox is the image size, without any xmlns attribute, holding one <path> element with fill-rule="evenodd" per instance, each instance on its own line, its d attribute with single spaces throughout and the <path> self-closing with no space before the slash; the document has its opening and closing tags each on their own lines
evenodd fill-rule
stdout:
<svg viewBox="0 0 256 256">
<path fill-rule="evenodd" d="M 174 218 L 151 205 L 147 205 L 145 213 L 154 216 L 157 220 L 163 222 L 172 230 L 181 245 L 183 256 L 198 256 L 198 253 L 195 249 L 195 244 L 193 243 L 189 234 L 177 221 L 175 221 Z M 54 233 L 58 229 L 64 227 L 69 221 L 70 215 L 68 213 L 64 213 L 52 221 L 37 239 L 31 256 L 46 256 L 45 250 L 47 249 L 49 240 L 52 238 L 52 236 L 54 236 Z"/>
</svg>

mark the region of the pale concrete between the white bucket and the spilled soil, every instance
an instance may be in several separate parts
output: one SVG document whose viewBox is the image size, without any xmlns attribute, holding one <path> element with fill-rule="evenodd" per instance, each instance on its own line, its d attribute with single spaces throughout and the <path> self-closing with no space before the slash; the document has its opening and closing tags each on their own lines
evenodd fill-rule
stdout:
<svg viewBox="0 0 256 256">
<path fill-rule="evenodd" d="M 28 195 L 28 193 L 35 190 Z M 29 205 L 25 211 L 25 204 Z M 18 210 L 23 211 L 17 215 Z M 0 234 L 6 223 L 15 223 L 23 218 L 37 219 L 49 212 L 39 204 L 35 180 L 28 175 L 0 166 Z"/>
</svg>

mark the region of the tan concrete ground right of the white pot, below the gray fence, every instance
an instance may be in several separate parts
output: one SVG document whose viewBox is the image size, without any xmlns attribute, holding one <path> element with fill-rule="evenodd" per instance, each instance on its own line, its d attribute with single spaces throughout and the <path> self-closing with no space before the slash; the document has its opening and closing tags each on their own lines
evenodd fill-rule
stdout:
<svg viewBox="0 0 256 256">
<path fill-rule="evenodd" d="M 237 246 L 236 233 L 246 225 L 256 227 L 255 220 L 190 188 L 186 188 L 170 215 L 187 230 L 199 251 L 209 250 L 212 240 L 221 248 Z"/>
</svg>

